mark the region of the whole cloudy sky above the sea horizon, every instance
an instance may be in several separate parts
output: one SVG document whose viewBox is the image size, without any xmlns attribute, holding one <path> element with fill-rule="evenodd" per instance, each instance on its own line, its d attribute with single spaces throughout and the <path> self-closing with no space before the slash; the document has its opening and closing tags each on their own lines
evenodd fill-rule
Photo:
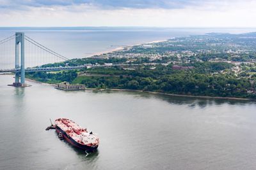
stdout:
<svg viewBox="0 0 256 170">
<path fill-rule="evenodd" d="M 256 0 L 0 0 L 0 26 L 256 27 Z"/>
</svg>

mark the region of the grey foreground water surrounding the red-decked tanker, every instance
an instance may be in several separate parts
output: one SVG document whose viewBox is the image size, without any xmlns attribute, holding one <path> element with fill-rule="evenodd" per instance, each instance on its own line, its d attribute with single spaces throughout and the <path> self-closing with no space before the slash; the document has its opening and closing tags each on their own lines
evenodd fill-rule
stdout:
<svg viewBox="0 0 256 170">
<path fill-rule="evenodd" d="M 0 169 L 255 169 L 253 102 L 12 82 L 0 76 Z M 97 133 L 97 152 L 86 156 L 45 131 L 60 117 Z"/>
</svg>

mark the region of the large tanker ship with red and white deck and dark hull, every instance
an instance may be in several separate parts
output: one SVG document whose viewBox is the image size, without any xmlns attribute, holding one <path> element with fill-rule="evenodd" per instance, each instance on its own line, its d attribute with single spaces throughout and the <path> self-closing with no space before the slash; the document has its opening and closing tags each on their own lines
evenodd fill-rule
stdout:
<svg viewBox="0 0 256 170">
<path fill-rule="evenodd" d="M 99 146 L 99 138 L 87 129 L 79 126 L 67 118 L 55 120 L 56 132 L 60 138 L 64 138 L 73 146 L 82 150 L 95 150 Z"/>
</svg>

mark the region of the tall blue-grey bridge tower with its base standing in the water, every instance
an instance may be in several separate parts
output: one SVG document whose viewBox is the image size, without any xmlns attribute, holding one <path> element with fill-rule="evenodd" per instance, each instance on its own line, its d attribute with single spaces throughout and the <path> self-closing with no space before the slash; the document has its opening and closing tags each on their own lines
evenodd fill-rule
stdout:
<svg viewBox="0 0 256 170">
<path fill-rule="evenodd" d="M 25 83 L 25 35 L 24 32 L 15 33 L 15 69 L 20 72 L 15 73 L 15 82 L 11 86 L 28 87 Z"/>
</svg>

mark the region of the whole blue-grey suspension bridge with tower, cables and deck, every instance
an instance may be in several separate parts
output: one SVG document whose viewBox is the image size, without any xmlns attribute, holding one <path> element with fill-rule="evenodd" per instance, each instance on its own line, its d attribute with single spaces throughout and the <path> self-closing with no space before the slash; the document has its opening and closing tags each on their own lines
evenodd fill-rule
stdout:
<svg viewBox="0 0 256 170">
<path fill-rule="evenodd" d="M 44 64 L 68 61 L 72 66 L 41 67 Z M 61 71 L 81 69 L 76 62 L 54 52 L 46 46 L 29 38 L 24 32 L 16 32 L 0 41 L 0 73 L 14 73 L 15 82 L 12 86 L 26 87 L 25 73 L 32 71 Z"/>
</svg>

